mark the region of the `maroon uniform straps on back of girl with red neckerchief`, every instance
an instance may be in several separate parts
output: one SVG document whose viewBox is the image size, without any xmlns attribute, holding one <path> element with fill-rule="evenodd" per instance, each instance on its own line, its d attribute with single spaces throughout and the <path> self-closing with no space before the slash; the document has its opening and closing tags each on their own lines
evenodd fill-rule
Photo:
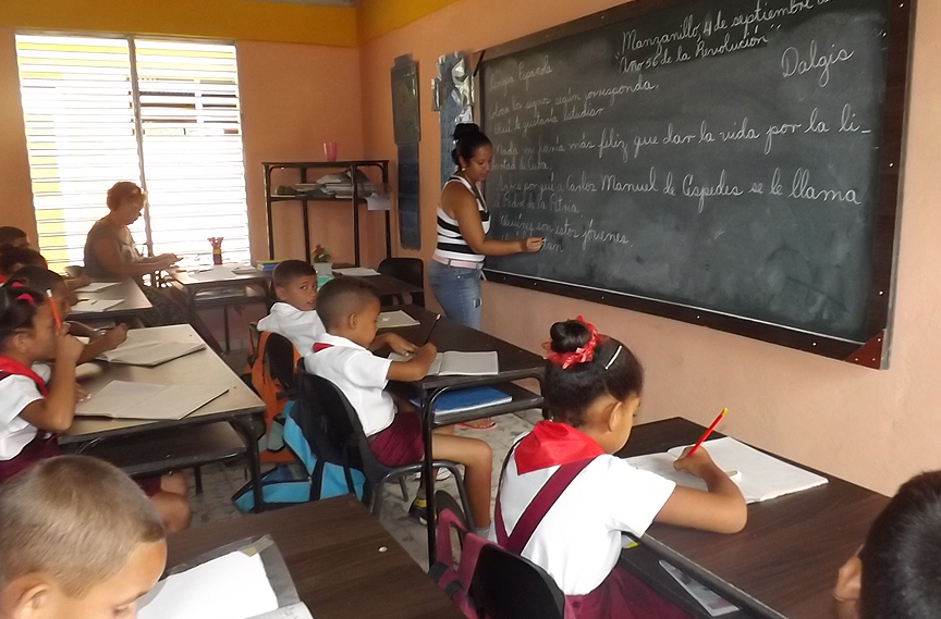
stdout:
<svg viewBox="0 0 941 619">
<path fill-rule="evenodd" d="M 514 445 L 513 449 L 515 449 L 515 447 L 516 446 Z M 523 515 L 513 528 L 513 532 L 508 535 L 506 524 L 503 521 L 503 510 L 500 507 L 500 503 L 502 499 L 503 478 L 506 475 L 506 465 L 509 463 L 510 458 L 513 457 L 513 449 L 506 454 L 506 459 L 503 460 L 503 470 L 500 473 L 500 482 L 497 488 L 497 506 L 493 513 L 493 525 L 497 531 L 497 542 L 511 553 L 522 555 L 523 548 L 525 548 L 526 544 L 529 543 L 529 538 L 533 537 L 536 528 L 539 527 L 539 523 L 542 522 L 542 519 L 546 518 L 546 515 L 552 506 L 555 505 L 559 497 L 562 496 L 565 488 L 569 487 L 575 478 L 578 476 L 578 473 L 595 460 L 595 458 L 585 458 L 560 466 L 559 469 L 552 473 L 552 476 L 549 478 L 549 481 L 539 488 L 539 492 L 536 493 L 536 496 L 533 497 L 533 500 L 526 506 L 526 509 L 523 511 Z"/>
</svg>

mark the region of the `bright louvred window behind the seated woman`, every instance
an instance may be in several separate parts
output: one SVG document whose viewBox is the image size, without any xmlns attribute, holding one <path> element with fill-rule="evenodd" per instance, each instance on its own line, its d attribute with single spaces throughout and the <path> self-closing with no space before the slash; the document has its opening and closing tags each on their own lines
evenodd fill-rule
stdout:
<svg viewBox="0 0 941 619">
<path fill-rule="evenodd" d="M 235 48 L 17 35 L 39 247 L 82 263 L 85 236 L 117 181 L 148 191 L 132 228 L 144 253 L 247 260 L 248 221 Z M 138 131 L 139 126 L 139 131 Z"/>
</svg>

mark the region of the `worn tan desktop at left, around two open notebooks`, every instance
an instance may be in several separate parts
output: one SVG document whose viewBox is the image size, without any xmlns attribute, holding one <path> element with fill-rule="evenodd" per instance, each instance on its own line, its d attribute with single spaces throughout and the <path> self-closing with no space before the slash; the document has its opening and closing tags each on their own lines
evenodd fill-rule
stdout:
<svg viewBox="0 0 941 619">
<path fill-rule="evenodd" d="M 167 342 L 200 342 L 196 332 L 188 324 L 155 326 L 154 333 L 166 336 Z M 265 404 L 255 395 L 242 380 L 219 358 L 208 346 L 185 357 L 173 359 L 154 368 L 123 366 L 120 363 L 98 362 L 103 372 L 84 381 L 82 386 L 95 396 L 111 381 L 130 381 L 151 384 L 211 383 L 229 386 L 229 391 L 191 414 L 176 421 L 144 421 L 131 419 L 101 419 L 76 417 L 72 428 L 60 436 L 60 443 L 88 441 L 102 435 L 132 434 L 149 430 L 155 425 L 169 428 L 208 421 L 207 418 L 223 420 L 241 414 L 253 414 L 265 410 Z"/>
</svg>

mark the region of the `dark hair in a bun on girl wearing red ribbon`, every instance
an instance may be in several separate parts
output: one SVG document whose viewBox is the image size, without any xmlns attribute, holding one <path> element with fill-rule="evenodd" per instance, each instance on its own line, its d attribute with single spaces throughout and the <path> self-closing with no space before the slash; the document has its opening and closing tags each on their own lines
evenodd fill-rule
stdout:
<svg viewBox="0 0 941 619">
<path fill-rule="evenodd" d="M 584 322 L 557 322 L 549 334 L 553 352 L 575 352 L 591 339 Z M 631 349 L 613 338 L 599 342 L 591 361 L 563 370 L 549 361 L 546 368 L 543 396 L 546 410 L 554 421 L 578 428 L 585 412 L 599 397 L 609 394 L 624 401 L 639 396 L 644 388 L 644 368 Z"/>
</svg>

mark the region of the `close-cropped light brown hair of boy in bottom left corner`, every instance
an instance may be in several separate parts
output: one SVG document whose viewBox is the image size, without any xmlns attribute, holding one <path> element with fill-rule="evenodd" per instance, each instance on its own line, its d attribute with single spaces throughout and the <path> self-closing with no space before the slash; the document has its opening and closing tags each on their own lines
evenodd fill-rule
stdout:
<svg viewBox="0 0 941 619">
<path fill-rule="evenodd" d="M 0 486 L 0 591 L 45 573 L 81 597 L 137 544 L 164 537 L 154 506 L 115 467 L 87 456 L 41 460 Z"/>
</svg>

